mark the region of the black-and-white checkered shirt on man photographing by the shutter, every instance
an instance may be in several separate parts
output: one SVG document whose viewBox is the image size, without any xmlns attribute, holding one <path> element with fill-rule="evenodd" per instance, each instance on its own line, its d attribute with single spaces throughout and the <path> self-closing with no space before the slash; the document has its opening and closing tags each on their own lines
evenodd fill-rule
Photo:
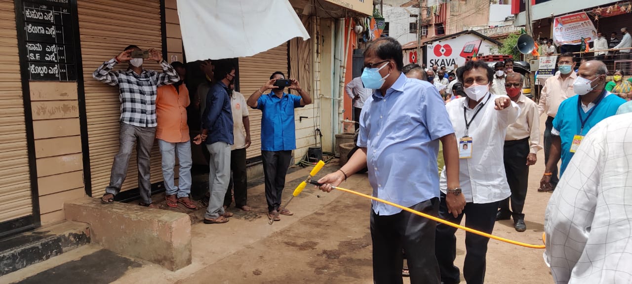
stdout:
<svg viewBox="0 0 632 284">
<path fill-rule="evenodd" d="M 133 126 L 155 127 L 156 88 L 178 82 L 178 73 L 164 60 L 160 63 L 163 73 L 147 69 L 143 69 L 140 74 L 131 69 L 112 70 L 116 63 L 115 58 L 104 62 L 92 73 L 92 77 L 107 85 L 119 87 L 121 122 Z"/>
</svg>

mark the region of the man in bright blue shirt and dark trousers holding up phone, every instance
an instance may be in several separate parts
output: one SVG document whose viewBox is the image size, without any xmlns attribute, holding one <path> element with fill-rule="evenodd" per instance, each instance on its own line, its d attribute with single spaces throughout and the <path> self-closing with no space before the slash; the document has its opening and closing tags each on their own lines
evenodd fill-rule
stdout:
<svg viewBox="0 0 632 284">
<path fill-rule="evenodd" d="M 283 92 L 285 87 L 296 90 L 300 96 Z M 270 93 L 265 93 L 272 90 Z M 268 203 L 268 218 L 281 220 L 282 215 L 294 215 L 281 206 L 281 193 L 285 186 L 292 150 L 296 149 L 294 109 L 311 104 L 310 95 L 301 89 L 294 79 L 286 80 L 283 72 L 276 71 L 264 86 L 258 88 L 250 98 L 249 107 L 262 111 L 261 155 L 264 162 L 265 199 Z M 280 113 L 279 113 L 280 112 Z M 276 216 L 276 217 L 275 217 Z"/>
</svg>

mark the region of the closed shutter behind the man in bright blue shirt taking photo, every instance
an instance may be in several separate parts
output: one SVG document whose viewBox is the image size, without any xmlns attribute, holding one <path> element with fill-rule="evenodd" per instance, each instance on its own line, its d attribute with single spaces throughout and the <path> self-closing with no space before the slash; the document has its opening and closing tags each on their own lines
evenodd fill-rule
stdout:
<svg viewBox="0 0 632 284">
<path fill-rule="evenodd" d="M 276 71 L 281 71 L 288 75 L 288 44 L 282 44 L 274 49 L 261 52 L 251 57 L 240 57 L 239 59 L 239 83 L 240 92 L 246 100 L 261 88 L 266 81 L 270 80 L 270 75 Z M 252 145 L 246 150 L 246 158 L 258 157 L 261 155 L 261 110 L 248 109 L 250 116 L 250 136 Z"/>
</svg>

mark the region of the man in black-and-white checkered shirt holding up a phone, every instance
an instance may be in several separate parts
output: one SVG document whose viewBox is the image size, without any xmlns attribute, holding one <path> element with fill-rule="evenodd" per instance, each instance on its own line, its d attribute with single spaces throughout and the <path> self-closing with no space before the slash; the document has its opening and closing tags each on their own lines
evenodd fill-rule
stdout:
<svg viewBox="0 0 632 284">
<path fill-rule="evenodd" d="M 139 53 L 140 51 L 140 53 Z M 156 95 L 157 87 L 170 85 L 180 80 L 176 70 L 155 49 L 143 54 L 136 45 L 129 45 L 118 56 L 104 62 L 97 68 L 92 77 L 110 86 L 118 86 L 121 101 L 121 118 L 119 125 L 119 151 L 114 156 L 110 184 L 101 203 L 112 204 L 114 196 L 121 191 L 125 181 L 131 151 L 137 145 L 138 187 L 140 188 L 140 205 L 151 206 L 150 153 L 154 145 L 156 133 Z M 132 53 L 140 58 L 133 58 Z M 162 66 L 162 73 L 143 69 L 143 57 L 155 60 Z M 126 70 L 112 70 L 116 64 L 126 62 Z"/>
</svg>

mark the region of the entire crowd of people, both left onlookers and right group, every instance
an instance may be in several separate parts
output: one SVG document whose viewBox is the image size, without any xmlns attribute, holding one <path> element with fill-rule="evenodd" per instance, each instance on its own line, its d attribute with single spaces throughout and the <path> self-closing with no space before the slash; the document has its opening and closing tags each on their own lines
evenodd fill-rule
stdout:
<svg viewBox="0 0 632 284">
<path fill-rule="evenodd" d="M 281 195 L 291 150 L 296 148 L 295 108 L 312 102 L 300 83 L 275 72 L 246 100 L 234 90 L 237 75 L 231 61 L 201 62 L 207 80 L 198 86 L 194 103 L 202 113 L 202 133 L 191 139 L 186 117 L 191 99 L 183 83 L 185 66 L 180 62 L 168 64 L 157 50 L 150 49 L 147 59 L 158 62 L 162 73 L 144 69 L 143 58 L 132 57 L 138 50 L 135 45 L 126 47 L 93 74 L 95 80 L 118 86 L 121 100 L 119 152 L 101 202 L 114 202 L 136 146 L 140 204 L 154 206 L 150 150 L 158 139 L 168 206 L 197 208 L 190 199 L 192 142 L 204 143 L 208 150 L 209 194 L 204 222 L 228 222 L 233 216 L 227 210 L 233 201 L 231 192 L 235 206 L 250 211 L 245 173 L 246 148 L 252 142 L 250 107 L 262 111 L 268 218 L 277 221 L 279 215 L 293 215 L 281 207 Z M 624 155 L 628 134 L 613 131 L 629 129 L 629 122 L 612 126 L 600 123 L 616 121 L 609 119 L 616 114 L 621 114 L 619 121 L 630 118 L 625 113 L 632 111 L 632 102 L 626 103 L 626 98 L 632 94 L 623 72 L 614 71 L 613 81 L 607 82 L 604 62 L 585 61 L 576 69 L 574 55 L 561 54 L 557 58 L 559 74 L 545 81 L 536 104 L 522 93 L 525 77 L 513 71 L 511 59 L 496 62 L 493 67 L 484 61 L 468 61 L 447 71 L 445 66 L 404 66 L 401 50 L 397 40 L 390 37 L 378 38 L 365 49 L 362 76 L 346 88 L 355 100 L 360 150 L 341 169 L 319 179 L 324 184 L 320 189 L 329 192 L 332 186 L 368 167 L 375 197 L 453 223 L 461 223 L 465 216 L 466 227 L 488 234 L 496 221 L 509 219 L 513 219 L 516 231 L 524 232 L 529 167 L 537 163 L 536 154 L 544 148 L 545 171 L 538 191 L 554 191 L 547 208 L 545 260 L 555 280 L 599 279 L 595 275 L 629 280 L 631 269 L 617 268 L 626 272 L 617 274 L 617 269 L 611 267 L 616 261 L 608 258 L 621 251 L 632 253 L 622 241 L 626 236 L 617 233 L 620 238 L 611 240 L 607 239 L 611 232 L 608 228 L 598 227 L 594 234 L 590 230 L 590 218 L 601 218 L 606 227 L 618 222 L 617 232 L 630 229 L 627 217 L 610 216 L 605 220 L 597 216 L 599 210 L 604 210 L 600 206 L 626 201 L 624 189 L 628 188 L 626 177 L 632 162 L 628 158 L 631 155 Z M 127 63 L 128 68 L 115 70 L 121 63 Z M 285 92 L 286 86 L 298 95 Z M 540 143 L 539 129 L 542 114 L 547 115 L 544 143 Z M 440 144 L 444 165 L 437 171 Z M 174 184 L 176 158 L 178 186 Z M 561 179 L 557 169 L 560 160 Z M 600 182 L 606 177 L 614 181 Z M 611 191 L 605 196 L 611 199 L 597 197 L 608 189 Z M 571 200 L 566 192 L 581 198 Z M 569 206 L 582 213 L 569 217 L 566 213 L 573 211 Z M 623 206 L 619 211 L 628 213 L 629 204 Z M 621 225 L 622 220 L 628 225 Z M 374 201 L 370 231 L 375 283 L 401 283 L 404 254 L 411 283 L 461 281 L 459 268 L 454 265 L 456 228 Z M 567 246 L 566 240 L 573 240 L 573 246 Z M 484 282 L 488 242 L 487 237 L 466 233 L 463 276 L 467 283 Z M 599 247 L 595 245 L 606 243 L 615 243 L 616 249 L 594 252 Z M 585 249 L 605 254 L 599 263 L 588 259 L 590 264 L 585 264 L 590 257 Z M 573 269 L 574 265 L 590 268 Z"/>
</svg>

